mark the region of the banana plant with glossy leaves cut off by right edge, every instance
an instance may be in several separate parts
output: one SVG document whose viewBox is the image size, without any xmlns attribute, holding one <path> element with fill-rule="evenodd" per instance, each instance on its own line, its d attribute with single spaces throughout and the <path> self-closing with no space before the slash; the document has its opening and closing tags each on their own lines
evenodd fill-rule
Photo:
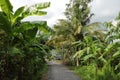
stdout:
<svg viewBox="0 0 120 80">
<path fill-rule="evenodd" d="M 99 57 L 99 60 L 101 60 L 104 64 L 104 66 L 109 65 L 114 68 L 114 71 L 116 73 L 119 73 L 120 71 L 120 43 L 119 43 L 119 20 L 120 20 L 120 14 L 115 19 L 115 23 L 113 22 L 107 22 L 106 26 L 107 36 L 105 39 L 106 42 L 106 48 L 104 49 L 104 53 Z M 118 41 L 116 41 L 118 40 Z"/>
</svg>

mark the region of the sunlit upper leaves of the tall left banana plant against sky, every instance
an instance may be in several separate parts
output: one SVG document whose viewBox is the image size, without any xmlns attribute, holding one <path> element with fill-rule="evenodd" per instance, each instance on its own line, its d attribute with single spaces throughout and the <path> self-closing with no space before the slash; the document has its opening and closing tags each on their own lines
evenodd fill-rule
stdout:
<svg viewBox="0 0 120 80">
<path fill-rule="evenodd" d="M 50 6 L 50 3 L 39 3 L 29 7 L 22 6 L 13 12 L 13 7 L 9 0 L 0 1 L 0 28 L 2 28 L 6 33 L 12 34 L 12 29 L 16 26 L 19 27 L 22 23 L 21 20 L 25 17 L 32 15 L 46 15 L 47 12 L 41 11 Z M 33 10 L 34 9 L 34 10 Z M 23 24 L 22 24 L 23 25 Z"/>
</svg>

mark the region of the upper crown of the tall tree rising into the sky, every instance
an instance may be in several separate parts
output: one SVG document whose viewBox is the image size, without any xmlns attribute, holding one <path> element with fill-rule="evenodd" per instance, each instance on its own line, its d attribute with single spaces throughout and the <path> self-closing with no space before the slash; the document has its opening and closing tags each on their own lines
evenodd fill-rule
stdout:
<svg viewBox="0 0 120 80">
<path fill-rule="evenodd" d="M 93 14 L 90 13 L 88 4 L 91 0 L 70 0 L 67 4 L 65 15 L 74 27 L 85 26 Z"/>
</svg>

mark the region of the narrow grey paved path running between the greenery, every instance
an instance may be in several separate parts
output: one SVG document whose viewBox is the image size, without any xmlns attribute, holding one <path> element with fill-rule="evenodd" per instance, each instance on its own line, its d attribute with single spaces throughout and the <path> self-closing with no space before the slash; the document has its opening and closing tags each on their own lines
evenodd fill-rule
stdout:
<svg viewBox="0 0 120 80">
<path fill-rule="evenodd" d="M 80 80 L 67 67 L 57 62 L 49 62 L 48 80 Z"/>
</svg>

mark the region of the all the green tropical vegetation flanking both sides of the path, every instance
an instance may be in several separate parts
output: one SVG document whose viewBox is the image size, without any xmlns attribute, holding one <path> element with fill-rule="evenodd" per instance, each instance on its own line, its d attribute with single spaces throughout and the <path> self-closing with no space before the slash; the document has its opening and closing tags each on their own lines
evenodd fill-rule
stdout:
<svg viewBox="0 0 120 80">
<path fill-rule="evenodd" d="M 90 23 L 91 1 L 70 0 L 66 19 L 51 29 L 46 21 L 23 21 L 46 15 L 49 2 L 13 11 L 0 0 L 0 80 L 40 80 L 52 49 L 82 80 L 119 80 L 120 13 L 114 22 Z"/>
</svg>

